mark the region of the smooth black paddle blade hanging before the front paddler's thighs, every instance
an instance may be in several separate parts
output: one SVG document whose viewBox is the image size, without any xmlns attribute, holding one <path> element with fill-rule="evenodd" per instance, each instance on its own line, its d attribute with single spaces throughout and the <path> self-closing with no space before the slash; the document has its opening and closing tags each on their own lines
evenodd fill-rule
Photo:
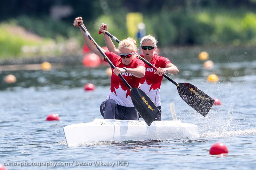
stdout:
<svg viewBox="0 0 256 170">
<path fill-rule="evenodd" d="M 139 88 L 131 90 L 132 103 L 144 121 L 150 126 L 159 111 L 148 95 Z"/>
</svg>

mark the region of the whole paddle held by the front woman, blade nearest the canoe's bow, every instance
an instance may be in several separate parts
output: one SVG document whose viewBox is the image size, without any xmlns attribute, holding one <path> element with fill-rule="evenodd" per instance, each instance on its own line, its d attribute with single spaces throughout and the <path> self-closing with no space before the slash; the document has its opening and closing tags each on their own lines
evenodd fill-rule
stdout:
<svg viewBox="0 0 256 170">
<path fill-rule="evenodd" d="M 82 19 L 82 18 L 81 18 Z M 115 69 L 116 67 L 114 64 L 108 59 L 107 55 L 103 53 L 101 48 L 99 48 L 98 44 L 93 40 L 90 33 L 86 31 L 83 25 L 79 25 L 80 28 L 84 31 L 84 33 L 87 35 L 87 37 L 92 41 L 94 46 L 100 51 L 100 54 L 103 55 L 103 57 L 107 60 L 107 62 L 110 64 L 110 66 Z M 159 111 L 156 105 L 150 100 L 148 95 L 143 92 L 139 88 L 132 88 L 128 82 L 124 79 L 124 77 L 119 74 L 118 75 L 121 80 L 124 82 L 124 84 L 130 89 L 131 91 L 131 99 L 134 107 L 139 112 L 141 117 L 144 119 L 144 121 L 150 126 L 150 124 L 153 122 L 153 120 L 156 117 L 157 112 Z"/>
</svg>

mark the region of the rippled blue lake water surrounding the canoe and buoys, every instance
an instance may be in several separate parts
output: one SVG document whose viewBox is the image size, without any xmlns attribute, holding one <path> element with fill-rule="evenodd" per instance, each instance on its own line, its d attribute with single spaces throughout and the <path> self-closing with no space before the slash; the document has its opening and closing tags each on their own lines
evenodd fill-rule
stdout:
<svg viewBox="0 0 256 170">
<path fill-rule="evenodd" d="M 114 164 L 114 168 L 118 169 L 138 170 L 254 169 L 255 53 L 243 59 L 243 49 L 242 52 L 234 51 L 235 49 L 231 50 L 227 58 L 226 55 L 221 57 L 218 54 L 213 57 L 215 66 L 211 70 L 205 70 L 203 62 L 194 55 L 182 56 L 181 59 L 176 57 L 173 60 L 170 57 L 180 70 L 179 74 L 172 75 L 171 78 L 178 83 L 191 83 L 222 102 L 221 106 L 213 106 L 208 115 L 203 117 L 181 100 L 175 85 L 165 79 L 162 82 L 162 120 L 172 120 L 169 103 L 173 102 L 177 118 L 181 122 L 198 125 L 199 138 L 88 142 L 68 148 L 62 129 L 64 126 L 102 118 L 99 106 L 110 88 L 110 78 L 105 73 L 107 67 L 88 69 L 81 65 L 71 65 L 46 72 L 2 71 L 0 163 L 5 164 L 9 170 L 46 169 L 44 163 L 51 163 L 49 167 L 54 169 L 112 168 L 104 166 L 106 163 Z M 175 51 L 172 56 L 175 56 Z M 206 78 L 211 73 L 219 76 L 219 82 L 207 82 Z M 5 84 L 4 77 L 7 74 L 15 75 L 17 82 Z M 85 92 L 83 86 L 89 82 L 95 84 L 96 89 Z M 61 121 L 45 121 L 51 113 L 58 113 Z M 209 155 L 210 147 L 216 142 L 226 144 L 229 153 Z M 24 162 L 34 166 L 7 166 Z M 54 163 L 59 165 L 53 167 Z M 119 166 L 117 163 L 120 163 Z M 61 166 L 64 164 L 65 166 Z"/>
</svg>

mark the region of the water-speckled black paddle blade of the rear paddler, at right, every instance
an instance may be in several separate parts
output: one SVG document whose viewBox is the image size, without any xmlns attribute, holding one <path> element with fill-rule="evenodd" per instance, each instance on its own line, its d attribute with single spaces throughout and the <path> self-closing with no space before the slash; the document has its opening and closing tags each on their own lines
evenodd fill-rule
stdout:
<svg viewBox="0 0 256 170">
<path fill-rule="evenodd" d="M 179 83 L 177 89 L 182 100 L 204 117 L 207 115 L 214 103 L 210 96 L 190 83 Z"/>
</svg>

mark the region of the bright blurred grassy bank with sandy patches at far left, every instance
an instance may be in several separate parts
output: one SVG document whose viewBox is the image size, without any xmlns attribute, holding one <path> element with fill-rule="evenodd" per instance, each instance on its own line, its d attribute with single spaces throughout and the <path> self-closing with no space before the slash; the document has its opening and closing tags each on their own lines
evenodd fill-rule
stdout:
<svg viewBox="0 0 256 170">
<path fill-rule="evenodd" d="M 19 24 L 19 21 L 24 20 L 24 17 L 0 23 L 0 58 L 74 54 L 77 48 L 80 48 L 75 38 L 64 37 L 60 34 L 53 37 L 51 34 L 55 32 L 55 28 L 46 28 L 43 20 L 35 22 L 33 18 L 25 18 L 28 22 L 22 22 L 23 24 Z M 24 26 L 24 23 L 27 26 Z M 31 28 L 38 30 L 31 31 Z"/>
</svg>

